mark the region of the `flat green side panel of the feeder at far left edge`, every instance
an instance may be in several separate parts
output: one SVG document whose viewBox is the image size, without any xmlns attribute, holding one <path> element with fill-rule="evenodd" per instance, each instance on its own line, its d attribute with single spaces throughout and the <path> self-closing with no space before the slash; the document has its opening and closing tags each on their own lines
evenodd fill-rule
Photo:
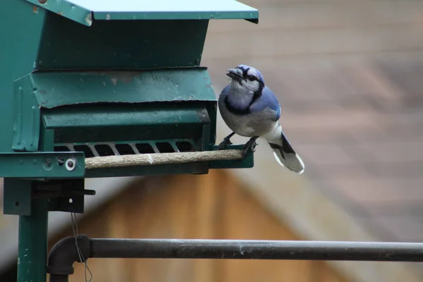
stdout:
<svg viewBox="0 0 423 282">
<path fill-rule="evenodd" d="M 13 81 L 34 70 L 44 14 L 22 0 L 0 1 L 0 152 L 12 152 Z"/>
</svg>

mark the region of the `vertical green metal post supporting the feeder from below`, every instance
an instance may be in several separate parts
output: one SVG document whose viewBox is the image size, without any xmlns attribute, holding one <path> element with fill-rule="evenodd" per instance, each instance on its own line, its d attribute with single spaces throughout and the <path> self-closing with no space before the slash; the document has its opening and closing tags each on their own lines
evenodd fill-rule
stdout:
<svg viewBox="0 0 423 282">
<path fill-rule="evenodd" d="M 47 199 L 32 201 L 30 216 L 19 216 L 18 282 L 46 281 Z"/>
</svg>

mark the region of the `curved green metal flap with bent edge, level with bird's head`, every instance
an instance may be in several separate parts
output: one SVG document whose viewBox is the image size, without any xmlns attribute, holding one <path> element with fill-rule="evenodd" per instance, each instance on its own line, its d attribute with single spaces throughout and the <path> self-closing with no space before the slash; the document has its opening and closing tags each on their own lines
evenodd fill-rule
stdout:
<svg viewBox="0 0 423 282">
<path fill-rule="evenodd" d="M 15 82 L 42 108 L 101 102 L 216 101 L 207 68 L 31 73 Z"/>
</svg>

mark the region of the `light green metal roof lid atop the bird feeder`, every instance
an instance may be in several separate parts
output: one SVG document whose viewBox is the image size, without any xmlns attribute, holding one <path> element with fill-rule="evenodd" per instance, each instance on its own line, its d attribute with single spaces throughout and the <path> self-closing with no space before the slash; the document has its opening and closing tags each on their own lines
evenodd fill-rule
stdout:
<svg viewBox="0 0 423 282">
<path fill-rule="evenodd" d="M 258 20 L 257 9 L 233 0 L 26 0 L 82 25 L 94 20 Z"/>
</svg>

